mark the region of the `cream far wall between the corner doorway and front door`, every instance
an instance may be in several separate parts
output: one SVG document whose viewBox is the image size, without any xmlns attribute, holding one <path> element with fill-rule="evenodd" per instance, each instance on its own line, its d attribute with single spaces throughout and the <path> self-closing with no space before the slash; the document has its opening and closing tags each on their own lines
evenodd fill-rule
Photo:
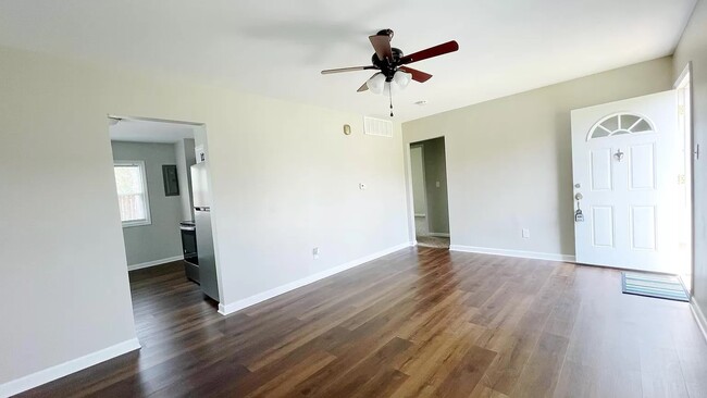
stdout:
<svg viewBox="0 0 707 398">
<path fill-rule="evenodd" d="M 570 110 L 670 89 L 671 76 L 662 58 L 461 108 L 404 123 L 404 146 L 445 136 L 452 245 L 571 256 Z"/>
</svg>

